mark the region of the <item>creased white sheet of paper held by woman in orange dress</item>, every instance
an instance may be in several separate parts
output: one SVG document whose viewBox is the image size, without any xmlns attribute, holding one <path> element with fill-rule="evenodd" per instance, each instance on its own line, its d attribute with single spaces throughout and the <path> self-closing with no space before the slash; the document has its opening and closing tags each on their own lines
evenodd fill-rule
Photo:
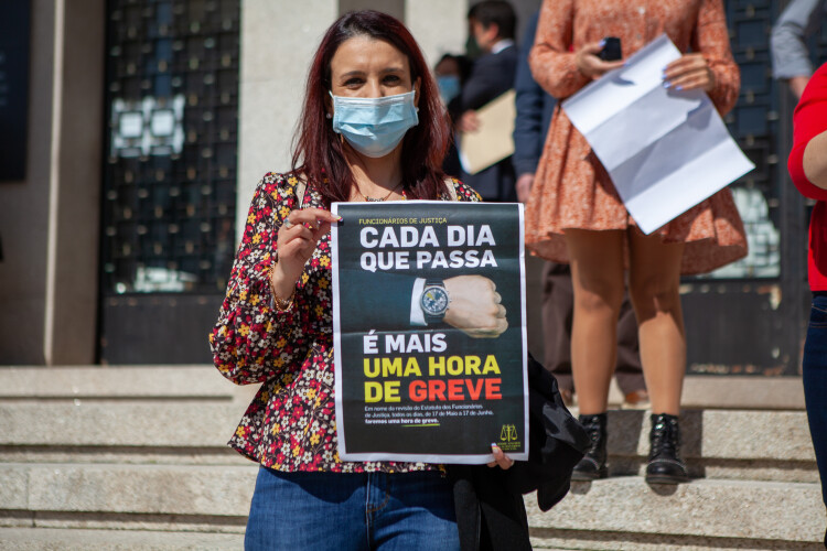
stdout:
<svg viewBox="0 0 827 551">
<path fill-rule="evenodd" d="M 755 168 L 705 91 L 663 87 L 678 57 L 663 34 L 562 102 L 645 234 Z"/>
</svg>

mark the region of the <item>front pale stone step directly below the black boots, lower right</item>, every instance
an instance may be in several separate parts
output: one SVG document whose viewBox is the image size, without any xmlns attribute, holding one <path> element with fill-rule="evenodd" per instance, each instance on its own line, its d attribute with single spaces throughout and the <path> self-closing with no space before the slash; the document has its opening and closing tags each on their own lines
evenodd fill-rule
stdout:
<svg viewBox="0 0 827 551">
<path fill-rule="evenodd" d="M 536 549 L 817 549 L 827 525 L 815 483 L 629 476 L 576 483 L 548 512 L 527 496 L 526 508 Z"/>
</svg>

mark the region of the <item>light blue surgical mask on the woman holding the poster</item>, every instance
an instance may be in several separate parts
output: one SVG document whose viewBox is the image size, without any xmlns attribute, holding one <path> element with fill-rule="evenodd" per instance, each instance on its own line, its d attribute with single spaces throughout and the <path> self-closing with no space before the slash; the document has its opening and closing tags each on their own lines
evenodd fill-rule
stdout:
<svg viewBox="0 0 827 551">
<path fill-rule="evenodd" d="M 414 95 L 415 90 L 384 98 L 351 98 L 331 93 L 333 131 L 363 155 L 385 156 L 419 123 Z"/>
</svg>

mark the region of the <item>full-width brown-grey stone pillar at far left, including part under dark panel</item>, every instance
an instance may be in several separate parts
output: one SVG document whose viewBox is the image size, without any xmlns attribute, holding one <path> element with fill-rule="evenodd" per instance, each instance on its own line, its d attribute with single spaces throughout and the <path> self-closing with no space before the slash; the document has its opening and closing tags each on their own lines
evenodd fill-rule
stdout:
<svg viewBox="0 0 827 551">
<path fill-rule="evenodd" d="M 26 176 L 0 184 L 0 364 L 95 360 L 104 34 L 104 0 L 31 2 Z"/>
</svg>

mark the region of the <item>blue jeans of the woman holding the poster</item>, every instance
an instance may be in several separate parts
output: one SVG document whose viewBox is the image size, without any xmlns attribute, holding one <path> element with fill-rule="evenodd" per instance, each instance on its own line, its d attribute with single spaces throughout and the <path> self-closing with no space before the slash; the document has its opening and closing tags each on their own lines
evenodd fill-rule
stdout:
<svg viewBox="0 0 827 551">
<path fill-rule="evenodd" d="M 260 467 L 247 551 L 459 550 L 453 491 L 439 473 L 280 473 Z"/>
</svg>

